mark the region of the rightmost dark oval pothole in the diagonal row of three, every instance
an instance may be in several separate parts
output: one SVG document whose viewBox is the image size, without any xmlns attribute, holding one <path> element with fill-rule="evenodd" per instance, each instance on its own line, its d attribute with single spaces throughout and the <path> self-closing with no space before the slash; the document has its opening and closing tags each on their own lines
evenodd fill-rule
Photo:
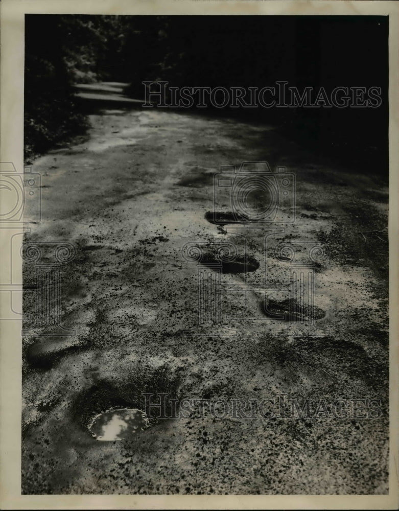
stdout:
<svg viewBox="0 0 399 511">
<path fill-rule="evenodd" d="M 264 303 L 261 307 L 266 316 L 283 321 L 312 321 L 325 316 L 325 312 L 320 307 L 300 305 L 294 298 L 283 301 L 269 300 L 266 307 Z"/>
</svg>

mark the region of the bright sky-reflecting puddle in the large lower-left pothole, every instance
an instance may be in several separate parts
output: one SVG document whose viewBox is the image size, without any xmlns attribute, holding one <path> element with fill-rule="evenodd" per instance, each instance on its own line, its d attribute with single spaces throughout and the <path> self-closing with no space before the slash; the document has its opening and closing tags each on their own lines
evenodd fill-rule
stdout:
<svg viewBox="0 0 399 511">
<path fill-rule="evenodd" d="M 103 442 L 124 440 L 150 427 L 145 412 L 137 408 L 110 408 L 96 415 L 89 426 L 90 433 Z"/>
</svg>

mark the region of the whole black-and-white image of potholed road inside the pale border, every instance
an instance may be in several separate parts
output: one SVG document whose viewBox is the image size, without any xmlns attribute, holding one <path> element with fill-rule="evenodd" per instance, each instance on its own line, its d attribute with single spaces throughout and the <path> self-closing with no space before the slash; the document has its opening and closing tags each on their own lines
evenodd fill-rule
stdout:
<svg viewBox="0 0 399 511">
<path fill-rule="evenodd" d="M 388 497 L 390 16 L 195 4 L 24 15 L 20 494 Z"/>
</svg>

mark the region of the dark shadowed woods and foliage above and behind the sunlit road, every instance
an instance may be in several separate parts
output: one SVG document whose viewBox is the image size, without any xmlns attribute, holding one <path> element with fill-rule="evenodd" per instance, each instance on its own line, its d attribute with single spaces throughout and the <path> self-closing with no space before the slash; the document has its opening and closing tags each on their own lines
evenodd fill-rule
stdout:
<svg viewBox="0 0 399 511">
<path fill-rule="evenodd" d="M 387 16 L 27 15 L 25 154 L 83 133 L 74 83 L 382 89 L 378 108 L 208 109 L 270 123 L 317 155 L 388 176 Z"/>
</svg>

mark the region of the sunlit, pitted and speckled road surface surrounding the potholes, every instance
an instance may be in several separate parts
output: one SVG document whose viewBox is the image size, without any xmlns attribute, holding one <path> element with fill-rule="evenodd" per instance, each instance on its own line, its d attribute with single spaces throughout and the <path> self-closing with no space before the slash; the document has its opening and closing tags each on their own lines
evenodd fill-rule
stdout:
<svg viewBox="0 0 399 511">
<path fill-rule="evenodd" d="M 270 126 L 120 106 L 91 115 L 87 141 L 34 164 L 42 221 L 27 241 L 76 246 L 61 271 L 62 323 L 75 335 L 25 336 L 22 492 L 386 493 L 387 189 L 315 162 Z M 264 227 L 205 218 L 219 167 L 256 160 L 286 165 L 297 179 L 297 220 L 268 238 L 266 257 Z M 199 329 L 198 267 L 181 249 L 226 241 L 260 266 L 222 274 L 230 330 Z M 330 247 L 315 276 L 324 316 L 314 323 L 271 320 L 260 307 L 265 290 L 288 297 L 289 263 L 274 251 L 281 241 L 302 252 Z M 377 399 L 382 411 L 245 420 L 205 408 L 121 442 L 90 435 L 96 414 L 143 405 L 143 392 L 211 402 Z"/>
</svg>

